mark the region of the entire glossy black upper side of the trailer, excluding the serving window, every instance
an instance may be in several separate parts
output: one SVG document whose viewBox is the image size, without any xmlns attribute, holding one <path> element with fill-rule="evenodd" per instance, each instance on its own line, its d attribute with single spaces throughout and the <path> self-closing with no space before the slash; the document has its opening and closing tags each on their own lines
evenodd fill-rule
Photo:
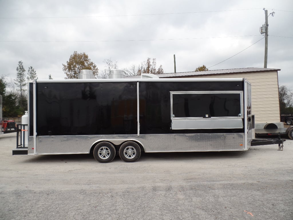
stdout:
<svg viewBox="0 0 293 220">
<path fill-rule="evenodd" d="M 36 91 L 38 136 L 137 134 L 137 82 L 36 83 Z M 243 91 L 243 82 L 139 82 L 140 134 L 243 131 L 171 130 L 171 91 Z"/>
</svg>

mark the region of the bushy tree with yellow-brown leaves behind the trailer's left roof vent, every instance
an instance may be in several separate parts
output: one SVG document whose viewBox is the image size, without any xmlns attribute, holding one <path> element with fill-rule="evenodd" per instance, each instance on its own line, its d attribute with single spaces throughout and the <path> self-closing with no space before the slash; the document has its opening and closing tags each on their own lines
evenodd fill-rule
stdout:
<svg viewBox="0 0 293 220">
<path fill-rule="evenodd" d="M 92 70 L 93 75 L 98 77 L 98 68 L 94 62 L 88 58 L 86 53 L 77 53 L 74 51 L 69 57 L 69 61 L 63 65 L 63 71 L 68 79 L 78 79 L 81 70 Z"/>
</svg>

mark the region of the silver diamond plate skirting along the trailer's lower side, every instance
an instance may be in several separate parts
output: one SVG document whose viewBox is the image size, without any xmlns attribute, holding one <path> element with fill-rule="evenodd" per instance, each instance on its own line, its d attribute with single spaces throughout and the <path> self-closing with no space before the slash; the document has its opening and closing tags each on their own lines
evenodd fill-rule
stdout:
<svg viewBox="0 0 293 220">
<path fill-rule="evenodd" d="M 37 154 L 89 153 L 91 146 L 102 140 L 138 141 L 145 152 L 245 150 L 243 133 L 38 136 L 36 149 Z M 32 146 L 29 137 L 29 154 Z"/>
</svg>

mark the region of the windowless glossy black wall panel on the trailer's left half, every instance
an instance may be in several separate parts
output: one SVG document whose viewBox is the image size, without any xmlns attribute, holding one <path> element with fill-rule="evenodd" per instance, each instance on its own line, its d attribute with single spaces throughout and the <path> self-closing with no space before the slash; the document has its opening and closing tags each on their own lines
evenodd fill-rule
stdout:
<svg viewBox="0 0 293 220">
<path fill-rule="evenodd" d="M 37 83 L 37 135 L 137 133 L 137 83 Z"/>
</svg>

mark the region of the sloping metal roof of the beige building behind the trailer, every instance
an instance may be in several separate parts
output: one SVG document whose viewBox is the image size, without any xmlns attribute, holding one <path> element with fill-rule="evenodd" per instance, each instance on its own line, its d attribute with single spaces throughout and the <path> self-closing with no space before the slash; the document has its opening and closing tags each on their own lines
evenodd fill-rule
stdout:
<svg viewBox="0 0 293 220">
<path fill-rule="evenodd" d="M 252 73 L 252 72 L 275 72 L 281 69 L 270 69 L 270 68 L 238 68 L 238 69 L 228 69 L 228 70 L 207 70 L 199 72 L 176 72 L 176 73 L 163 73 L 158 74 L 159 78 L 180 78 L 180 77 L 192 77 L 192 76 L 204 76 L 204 75 L 226 75 L 226 74 L 236 74 L 236 73 Z M 139 78 L 140 76 L 129 76 L 127 78 Z"/>
</svg>

